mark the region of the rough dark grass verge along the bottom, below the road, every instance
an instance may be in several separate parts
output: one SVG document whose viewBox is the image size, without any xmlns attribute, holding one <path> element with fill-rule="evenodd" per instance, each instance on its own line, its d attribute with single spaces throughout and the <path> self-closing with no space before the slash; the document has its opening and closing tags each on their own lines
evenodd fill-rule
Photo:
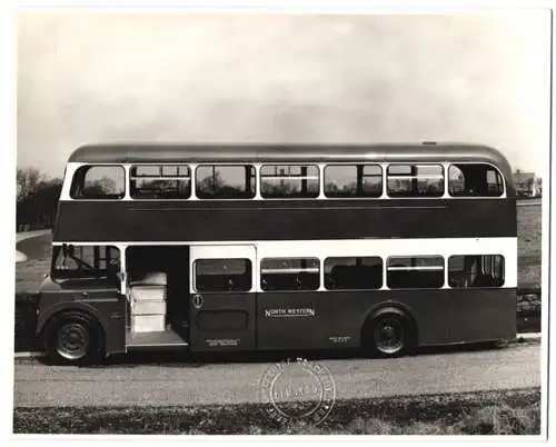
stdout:
<svg viewBox="0 0 556 447">
<path fill-rule="evenodd" d="M 300 404 L 281 406 L 288 414 Z M 14 408 L 28 434 L 538 435 L 540 389 L 337 401 L 318 427 L 281 426 L 264 404 L 197 407 Z"/>
</svg>

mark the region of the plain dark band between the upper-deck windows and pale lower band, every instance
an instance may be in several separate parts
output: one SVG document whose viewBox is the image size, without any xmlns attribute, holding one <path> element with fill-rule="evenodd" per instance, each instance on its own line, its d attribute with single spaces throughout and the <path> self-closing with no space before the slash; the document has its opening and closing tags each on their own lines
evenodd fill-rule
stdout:
<svg viewBox="0 0 556 447">
<path fill-rule="evenodd" d="M 53 241 L 515 237 L 515 206 L 493 198 L 61 201 Z"/>
</svg>

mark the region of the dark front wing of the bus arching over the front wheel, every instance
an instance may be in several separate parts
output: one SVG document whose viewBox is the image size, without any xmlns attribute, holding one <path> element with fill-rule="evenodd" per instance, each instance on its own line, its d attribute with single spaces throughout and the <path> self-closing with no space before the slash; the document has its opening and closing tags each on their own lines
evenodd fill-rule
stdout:
<svg viewBox="0 0 556 447">
<path fill-rule="evenodd" d="M 60 311 L 80 310 L 95 317 L 105 332 L 106 354 L 126 351 L 127 300 L 112 284 L 98 279 L 50 281 L 40 292 L 37 334 Z"/>
</svg>

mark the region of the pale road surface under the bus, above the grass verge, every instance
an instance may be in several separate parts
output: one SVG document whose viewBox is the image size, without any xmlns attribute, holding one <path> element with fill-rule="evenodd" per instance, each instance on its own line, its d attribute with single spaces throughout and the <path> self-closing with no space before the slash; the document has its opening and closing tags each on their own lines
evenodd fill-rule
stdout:
<svg viewBox="0 0 556 447">
<path fill-rule="evenodd" d="M 167 406 L 260 403 L 259 383 L 275 362 L 123 359 L 103 367 L 54 367 L 16 360 L 14 406 Z M 336 398 L 478 391 L 540 386 L 540 345 L 421 354 L 399 359 L 316 360 Z"/>
</svg>

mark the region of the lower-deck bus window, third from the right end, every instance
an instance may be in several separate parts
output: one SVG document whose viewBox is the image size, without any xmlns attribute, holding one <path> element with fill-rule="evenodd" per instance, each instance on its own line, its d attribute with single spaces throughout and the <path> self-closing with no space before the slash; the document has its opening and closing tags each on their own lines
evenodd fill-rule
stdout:
<svg viewBox="0 0 556 447">
<path fill-rule="evenodd" d="M 327 258 L 325 287 L 336 289 L 379 289 L 383 287 L 383 259 Z"/>
</svg>

